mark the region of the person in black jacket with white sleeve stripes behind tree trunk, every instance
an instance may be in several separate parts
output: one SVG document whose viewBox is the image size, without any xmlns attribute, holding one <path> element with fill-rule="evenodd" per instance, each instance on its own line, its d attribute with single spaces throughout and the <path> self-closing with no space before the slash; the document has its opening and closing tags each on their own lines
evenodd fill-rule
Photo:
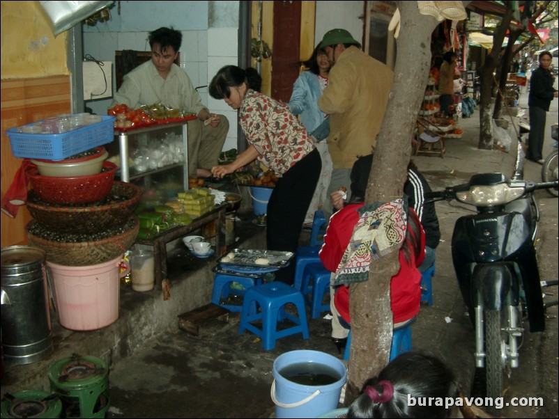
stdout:
<svg viewBox="0 0 559 419">
<path fill-rule="evenodd" d="M 374 155 L 362 156 L 355 161 L 351 169 L 351 201 L 362 202 L 367 191 L 369 173 L 373 164 Z M 404 184 L 404 193 L 408 197 L 408 206 L 412 207 L 418 214 L 425 231 L 425 258 L 418 269 L 420 272 L 430 267 L 435 262 L 435 248 L 441 239 L 441 230 L 438 226 L 438 218 L 435 203 L 425 202 L 425 193 L 431 192 L 427 179 L 420 173 L 418 168 L 410 160 L 408 164 L 408 179 Z M 332 205 L 339 210 L 344 205 L 339 199 L 339 193 L 332 192 Z"/>
</svg>

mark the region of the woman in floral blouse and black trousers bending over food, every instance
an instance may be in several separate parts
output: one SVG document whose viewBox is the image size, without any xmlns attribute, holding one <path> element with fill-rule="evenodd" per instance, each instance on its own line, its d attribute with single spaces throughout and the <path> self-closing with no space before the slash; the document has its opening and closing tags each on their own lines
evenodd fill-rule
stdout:
<svg viewBox="0 0 559 419">
<path fill-rule="evenodd" d="M 280 180 L 268 201 L 268 250 L 295 252 L 321 172 L 314 140 L 286 104 L 259 93 L 261 78 L 254 68 L 226 65 L 213 77 L 209 92 L 238 109 L 240 127 L 249 142 L 230 164 L 214 166 L 212 174 L 224 177 L 254 159 L 275 171 Z M 277 272 L 277 280 L 293 284 L 293 264 Z"/>
</svg>

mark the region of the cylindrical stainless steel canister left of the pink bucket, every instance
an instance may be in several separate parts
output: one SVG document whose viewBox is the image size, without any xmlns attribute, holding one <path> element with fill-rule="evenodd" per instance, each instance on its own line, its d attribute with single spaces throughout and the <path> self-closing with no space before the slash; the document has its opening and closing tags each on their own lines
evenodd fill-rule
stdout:
<svg viewBox="0 0 559 419">
<path fill-rule="evenodd" d="M 6 364 L 29 364 L 52 352 L 46 254 L 32 246 L 1 249 L 1 329 Z"/>
</svg>

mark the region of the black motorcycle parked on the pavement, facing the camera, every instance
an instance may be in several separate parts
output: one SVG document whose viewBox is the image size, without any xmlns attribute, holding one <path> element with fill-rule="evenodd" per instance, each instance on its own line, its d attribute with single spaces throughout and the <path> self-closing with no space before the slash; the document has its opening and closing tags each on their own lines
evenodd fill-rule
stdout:
<svg viewBox="0 0 559 419">
<path fill-rule="evenodd" d="M 520 139 L 519 139 L 520 140 Z M 475 329 L 475 365 L 486 369 L 487 397 L 503 396 L 503 372 L 519 366 L 527 319 L 530 332 L 543 331 L 544 303 L 535 241 L 539 210 L 533 192 L 559 183 L 522 179 L 519 141 L 514 173 L 473 175 L 466 184 L 429 193 L 429 200 L 458 200 L 475 214 L 461 216 L 452 234 L 452 262 Z M 495 400 L 495 399 L 493 399 Z"/>
</svg>

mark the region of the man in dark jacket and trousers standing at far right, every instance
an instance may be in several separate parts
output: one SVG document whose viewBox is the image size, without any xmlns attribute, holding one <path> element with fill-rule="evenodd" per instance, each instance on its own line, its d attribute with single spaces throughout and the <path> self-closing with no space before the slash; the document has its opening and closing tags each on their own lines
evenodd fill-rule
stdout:
<svg viewBox="0 0 559 419">
<path fill-rule="evenodd" d="M 539 67 L 530 77 L 530 94 L 528 95 L 528 113 L 530 115 L 530 134 L 528 136 L 528 150 L 526 159 L 544 164 L 542 148 L 546 129 L 546 112 L 553 97 L 557 97 L 557 90 L 553 88 L 553 74 L 549 70 L 551 52 L 539 54 Z"/>
</svg>

